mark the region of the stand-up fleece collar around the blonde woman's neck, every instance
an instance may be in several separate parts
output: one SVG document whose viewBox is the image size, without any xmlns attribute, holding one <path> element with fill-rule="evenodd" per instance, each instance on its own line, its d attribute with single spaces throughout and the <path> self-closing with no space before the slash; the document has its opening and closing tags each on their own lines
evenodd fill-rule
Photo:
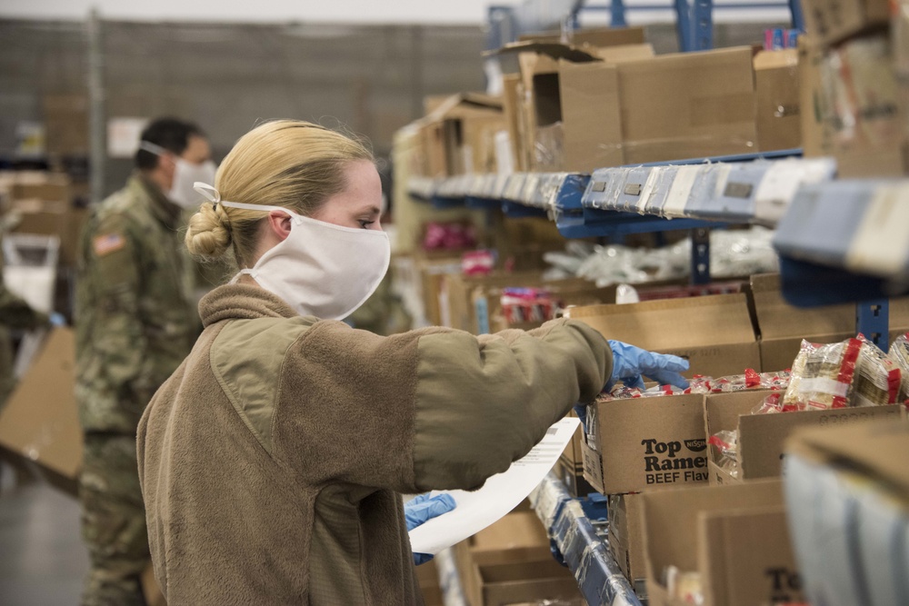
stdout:
<svg viewBox="0 0 909 606">
<path fill-rule="evenodd" d="M 225 284 L 202 297 L 199 315 L 207 327 L 224 320 L 295 318 L 299 313 L 264 288 L 248 284 Z"/>
</svg>

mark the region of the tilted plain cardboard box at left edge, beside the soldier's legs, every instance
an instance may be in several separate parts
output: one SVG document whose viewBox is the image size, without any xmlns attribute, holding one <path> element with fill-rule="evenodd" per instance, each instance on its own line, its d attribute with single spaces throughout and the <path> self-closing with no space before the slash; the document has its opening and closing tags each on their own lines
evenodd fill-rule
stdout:
<svg viewBox="0 0 909 606">
<path fill-rule="evenodd" d="M 75 493 L 82 428 L 75 404 L 75 334 L 55 328 L 0 413 L 0 446 L 35 462 L 49 480 Z"/>
</svg>

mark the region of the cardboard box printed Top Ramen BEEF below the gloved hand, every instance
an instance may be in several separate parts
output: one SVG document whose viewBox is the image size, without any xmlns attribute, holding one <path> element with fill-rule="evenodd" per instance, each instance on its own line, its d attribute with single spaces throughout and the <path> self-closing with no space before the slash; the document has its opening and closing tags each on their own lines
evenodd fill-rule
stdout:
<svg viewBox="0 0 909 606">
<path fill-rule="evenodd" d="M 587 415 L 584 478 L 599 492 L 707 482 L 702 394 L 596 402 Z"/>
</svg>

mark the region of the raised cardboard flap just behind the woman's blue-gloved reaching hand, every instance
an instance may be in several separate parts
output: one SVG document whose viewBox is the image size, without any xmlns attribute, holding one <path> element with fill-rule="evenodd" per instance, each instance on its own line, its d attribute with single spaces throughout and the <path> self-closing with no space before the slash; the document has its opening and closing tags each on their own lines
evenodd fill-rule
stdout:
<svg viewBox="0 0 909 606">
<path fill-rule="evenodd" d="M 607 339 L 652 351 L 755 341 L 742 293 L 589 305 L 569 309 L 565 315 L 593 326 Z"/>
</svg>

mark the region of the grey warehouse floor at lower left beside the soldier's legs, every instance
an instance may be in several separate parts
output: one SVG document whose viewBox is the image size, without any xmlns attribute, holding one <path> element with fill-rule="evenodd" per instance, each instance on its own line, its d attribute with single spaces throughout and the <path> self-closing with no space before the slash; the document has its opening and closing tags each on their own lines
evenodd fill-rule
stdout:
<svg viewBox="0 0 909 606">
<path fill-rule="evenodd" d="M 7 466 L 0 478 L 0 604 L 79 603 L 88 571 L 79 503 L 40 480 L 15 485 Z"/>
</svg>

